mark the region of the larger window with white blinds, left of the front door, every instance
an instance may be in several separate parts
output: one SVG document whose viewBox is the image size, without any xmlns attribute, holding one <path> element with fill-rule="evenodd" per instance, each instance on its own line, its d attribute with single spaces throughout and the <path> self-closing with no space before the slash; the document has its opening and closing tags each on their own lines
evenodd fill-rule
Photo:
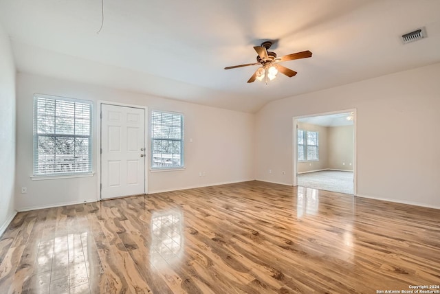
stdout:
<svg viewBox="0 0 440 294">
<path fill-rule="evenodd" d="M 91 173 L 91 102 L 34 95 L 34 175 Z"/>
</svg>

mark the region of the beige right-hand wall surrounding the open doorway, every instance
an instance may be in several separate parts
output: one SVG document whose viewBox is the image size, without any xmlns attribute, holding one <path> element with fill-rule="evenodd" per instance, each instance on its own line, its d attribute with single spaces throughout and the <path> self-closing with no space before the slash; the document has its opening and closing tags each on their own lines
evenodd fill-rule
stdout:
<svg viewBox="0 0 440 294">
<path fill-rule="evenodd" d="M 270 102 L 256 114 L 256 179 L 292 185 L 292 117 L 357 109 L 358 196 L 440 208 L 439 77 L 437 63 Z"/>
</svg>

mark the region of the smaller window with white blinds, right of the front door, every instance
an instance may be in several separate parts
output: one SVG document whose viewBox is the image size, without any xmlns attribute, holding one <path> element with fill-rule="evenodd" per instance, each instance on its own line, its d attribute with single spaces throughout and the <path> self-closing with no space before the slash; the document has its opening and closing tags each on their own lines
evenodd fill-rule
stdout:
<svg viewBox="0 0 440 294">
<path fill-rule="evenodd" d="M 151 168 L 184 167 L 184 115 L 151 111 Z"/>
</svg>

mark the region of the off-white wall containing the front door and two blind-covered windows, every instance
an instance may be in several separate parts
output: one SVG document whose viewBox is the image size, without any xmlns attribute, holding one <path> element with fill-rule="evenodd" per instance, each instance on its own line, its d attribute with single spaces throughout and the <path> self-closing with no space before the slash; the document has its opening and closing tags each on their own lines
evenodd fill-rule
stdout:
<svg viewBox="0 0 440 294">
<path fill-rule="evenodd" d="M 168 172 L 148 171 L 148 192 L 150 193 L 254 179 L 254 115 L 250 113 L 215 109 L 43 76 L 18 74 L 17 109 L 19 111 L 17 112 L 17 189 L 15 193 L 18 210 L 98 199 L 97 174 L 94 177 L 76 179 L 43 181 L 30 179 L 32 176 L 34 93 L 92 100 L 95 113 L 98 100 L 144 105 L 148 106 L 148 111 L 157 109 L 184 113 L 186 169 Z M 98 120 L 94 117 L 94 146 L 98 142 L 97 127 Z M 96 148 L 93 150 L 93 170 L 96 172 Z M 148 161 L 150 158 L 151 152 L 147 155 Z M 199 172 L 205 172 L 206 176 L 199 177 Z M 19 187 L 21 186 L 28 187 L 28 194 L 20 194 Z"/>
</svg>

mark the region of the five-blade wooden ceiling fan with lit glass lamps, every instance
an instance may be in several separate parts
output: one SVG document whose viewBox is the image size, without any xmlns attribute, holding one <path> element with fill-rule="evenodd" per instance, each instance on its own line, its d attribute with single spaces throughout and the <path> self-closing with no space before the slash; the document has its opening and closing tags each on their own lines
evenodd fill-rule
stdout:
<svg viewBox="0 0 440 294">
<path fill-rule="evenodd" d="M 288 69 L 287 67 L 283 67 L 283 65 L 280 65 L 279 63 L 283 61 L 311 57 L 311 52 L 309 52 L 309 50 L 276 57 L 275 52 L 267 51 L 267 49 L 269 49 L 271 46 L 271 41 L 265 41 L 261 44 L 261 46 L 254 47 L 256 54 L 258 54 L 256 56 L 256 63 L 234 65 L 232 67 L 225 67 L 225 69 L 248 67 L 250 65 L 261 65 L 261 67 L 259 67 L 259 69 L 257 69 L 255 73 L 250 77 L 248 82 L 254 82 L 255 80 L 261 81 L 264 79 L 267 84 L 268 80 L 273 80 L 274 78 L 276 78 L 276 74 L 278 74 L 278 72 L 281 72 L 281 74 L 285 74 L 289 78 L 292 78 L 292 76 L 295 76 L 297 74 L 296 71 Z"/>
</svg>

